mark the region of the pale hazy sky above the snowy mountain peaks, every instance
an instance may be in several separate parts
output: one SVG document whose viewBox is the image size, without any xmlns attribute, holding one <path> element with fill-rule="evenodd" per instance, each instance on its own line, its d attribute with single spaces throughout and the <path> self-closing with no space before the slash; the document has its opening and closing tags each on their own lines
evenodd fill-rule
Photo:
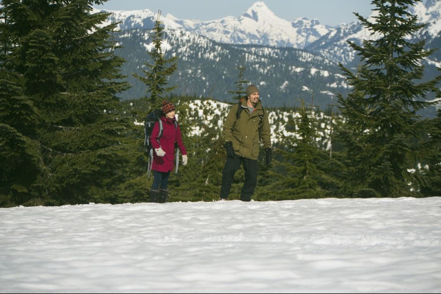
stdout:
<svg viewBox="0 0 441 294">
<path fill-rule="evenodd" d="M 162 11 L 178 19 L 209 21 L 225 16 L 239 17 L 257 0 L 109 0 L 95 8 L 105 10 Z M 338 25 L 356 21 L 353 12 L 362 16 L 371 14 L 372 0 L 266 0 L 272 12 L 282 19 L 292 21 L 299 17 L 318 19 L 326 25 Z"/>
</svg>

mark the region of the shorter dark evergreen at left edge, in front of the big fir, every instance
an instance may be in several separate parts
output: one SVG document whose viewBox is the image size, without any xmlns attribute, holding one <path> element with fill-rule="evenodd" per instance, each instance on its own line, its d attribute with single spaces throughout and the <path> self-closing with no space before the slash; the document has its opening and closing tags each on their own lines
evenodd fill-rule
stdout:
<svg viewBox="0 0 441 294">
<path fill-rule="evenodd" d="M 0 71 L 0 207 L 23 203 L 43 171 L 36 128 L 38 110 L 21 91 L 19 77 Z"/>
</svg>

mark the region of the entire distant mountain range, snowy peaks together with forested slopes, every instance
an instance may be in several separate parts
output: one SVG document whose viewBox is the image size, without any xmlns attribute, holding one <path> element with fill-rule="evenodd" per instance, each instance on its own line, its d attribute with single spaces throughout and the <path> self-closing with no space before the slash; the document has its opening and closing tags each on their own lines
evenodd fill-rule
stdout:
<svg viewBox="0 0 441 294">
<path fill-rule="evenodd" d="M 158 12 L 147 9 L 108 12 L 111 12 L 109 22 L 120 23 L 117 37 L 125 48 L 118 49 L 118 54 L 127 60 L 123 71 L 130 80 L 132 73 L 140 70 L 145 50 L 151 48 L 150 30 Z M 428 49 L 441 47 L 441 1 L 418 2 L 409 12 L 416 14 L 421 23 L 427 23 L 412 38 L 424 38 Z M 374 21 L 374 16 L 375 11 L 363 17 Z M 287 21 L 275 15 L 263 1 L 252 4 L 239 18 L 195 21 L 161 14 L 160 19 L 166 27 L 164 50 L 170 56 L 180 57 L 178 71 L 170 80 L 171 84 L 182 85 L 179 93 L 228 101 L 227 93 L 237 76 L 237 66 L 246 56 L 249 75 L 246 79 L 259 84 L 261 91 L 268 93 L 266 105 L 274 107 L 293 106 L 296 97 L 307 103 L 313 99 L 325 109 L 332 104 L 336 93 L 349 91 L 338 63 L 354 67 L 358 60 L 347 41 L 360 44 L 378 37 L 359 21 L 336 27 L 307 18 Z M 438 74 L 435 67 L 441 65 L 441 50 L 429 58 L 427 69 L 434 76 Z M 144 95 L 142 84 L 136 80 L 130 82 L 133 88 L 123 98 Z M 314 93 L 313 98 L 308 98 L 310 94 L 305 88 Z"/>
</svg>

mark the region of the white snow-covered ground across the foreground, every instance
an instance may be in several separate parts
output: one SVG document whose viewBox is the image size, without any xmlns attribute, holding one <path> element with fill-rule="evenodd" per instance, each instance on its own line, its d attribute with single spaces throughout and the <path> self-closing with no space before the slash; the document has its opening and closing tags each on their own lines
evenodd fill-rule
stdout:
<svg viewBox="0 0 441 294">
<path fill-rule="evenodd" d="M 441 197 L 0 209 L 1 293 L 441 293 Z"/>
</svg>

